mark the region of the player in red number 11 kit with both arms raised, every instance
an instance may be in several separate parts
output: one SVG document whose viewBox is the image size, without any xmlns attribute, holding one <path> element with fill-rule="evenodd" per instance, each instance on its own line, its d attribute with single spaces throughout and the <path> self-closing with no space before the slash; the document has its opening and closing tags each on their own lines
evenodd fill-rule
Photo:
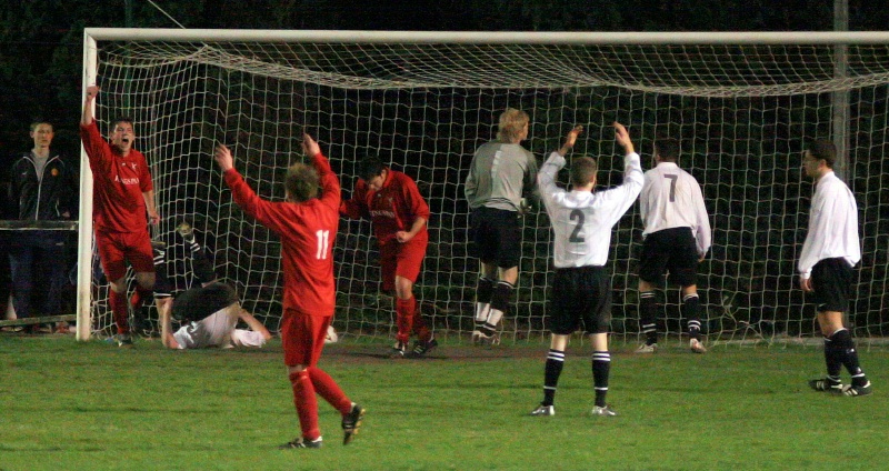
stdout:
<svg viewBox="0 0 889 471">
<path fill-rule="evenodd" d="M 286 201 L 282 202 L 259 198 L 234 170 L 231 151 L 224 146 L 216 150 L 216 161 L 234 202 L 281 238 L 284 277 L 281 341 L 302 429 L 301 437 L 284 443 L 282 449 L 321 447 L 316 392 L 342 414 L 343 444 L 358 433 L 364 414 L 364 410 L 351 402 L 336 381 L 316 365 L 336 303 L 332 245 L 339 226 L 340 182 L 318 142 L 309 134 L 302 138 L 302 150 L 314 168 L 296 163 L 288 169 Z"/>
</svg>

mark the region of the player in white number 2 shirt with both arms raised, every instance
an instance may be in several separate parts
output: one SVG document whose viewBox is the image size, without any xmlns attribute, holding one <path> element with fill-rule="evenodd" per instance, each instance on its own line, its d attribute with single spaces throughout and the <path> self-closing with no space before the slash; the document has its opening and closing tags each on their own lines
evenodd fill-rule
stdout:
<svg viewBox="0 0 889 471">
<path fill-rule="evenodd" d="M 596 391 L 593 415 L 616 415 L 606 404 L 611 354 L 608 328 L 611 321 L 611 277 L 605 267 L 611 243 L 611 229 L 636 201 L 642 189 L 642 168 L 627 130 L 615 123 L 617 140 L 626 151 L 623 183 L 593 191 L 598 166 L 589 157 L 571 162 L 571 191 L 556 186 L 565 167 L 565 154 L 573 147 L 581 127 L 568 133 L 561 149 L 552 152 L 538 174 L 538 188 L 555 232 L 550 311 L 547 319 L 552 339 L 543 370 L 543 401 L 531 415 L 556 413 L 553 400 L 568 339 L 579 328 L 590 335 L 592 379 Z"/>
</svg>

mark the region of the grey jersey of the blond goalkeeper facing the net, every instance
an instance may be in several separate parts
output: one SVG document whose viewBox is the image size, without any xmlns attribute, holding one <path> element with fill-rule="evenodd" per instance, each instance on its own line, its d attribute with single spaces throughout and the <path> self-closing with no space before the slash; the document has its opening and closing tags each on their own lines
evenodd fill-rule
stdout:
<svg viewBox="0 0 889 471">
<path fill-rule="evenodd" d="M 518 211 L 522 197 L 530 196 L 537 181 L 537 160 L 519 144 L 488 142 L 472 157 L 466 179 L 469 208 Z"/>
</svg>

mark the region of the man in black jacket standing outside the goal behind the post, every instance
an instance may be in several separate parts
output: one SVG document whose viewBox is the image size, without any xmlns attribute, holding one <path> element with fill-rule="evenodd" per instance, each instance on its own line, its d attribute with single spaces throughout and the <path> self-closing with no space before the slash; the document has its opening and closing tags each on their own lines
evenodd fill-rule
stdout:
<svg viewBox="0 0 889 471">
<path fill-rule="evenodd" d="M 50 150 L 52 124 L 34 122 L 31 138 L 33 149 L 16 160 L 10 173 L 9 200 L 14 204 L 16 216 L 34 222 L 71 219 L 78 202 L 76 172 L 61 156 Z M 21 230 L 10 236 L 13 307 L 19 319 L 60 314 L 68 269 L 63 263 L 66 239 L 64 232 L 53 230 Z M 32 305 L 38 284 L 44 287 L 39 290 L 42 302 Z"/>
</svg>

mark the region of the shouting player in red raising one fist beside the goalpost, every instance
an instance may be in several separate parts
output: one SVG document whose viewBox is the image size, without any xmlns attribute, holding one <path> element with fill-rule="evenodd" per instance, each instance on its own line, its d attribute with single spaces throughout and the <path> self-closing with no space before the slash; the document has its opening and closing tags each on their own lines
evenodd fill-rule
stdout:
<svg viewBox="0 0 889 471">
<path fill-rule="evenodd" d="M 92 220 L 96 245 L 102 270 L 111 283 L 108 298 L 114 313 L 119 345 L 131 345 L 127 300 L 127 264 L 136 272 L 137 291 L 142 299 L 151 295 L 154 264 L 148 218 L 160 221 L 154 208 L 154 187 L 142 152 L 132 148 L 136 141 L 132 120 L 121 118 L 111 127 L 110 142 L 99 133 L 92 106 L 99 88 L 87 87 L 80 138 L 90 161 L 93 177 Z"/>
</svg>

